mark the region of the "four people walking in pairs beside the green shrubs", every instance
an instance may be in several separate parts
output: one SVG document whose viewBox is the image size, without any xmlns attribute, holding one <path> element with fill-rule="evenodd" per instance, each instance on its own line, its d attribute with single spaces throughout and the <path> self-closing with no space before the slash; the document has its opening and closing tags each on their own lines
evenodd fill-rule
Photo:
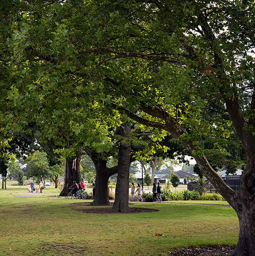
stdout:
<svg viewBox="0 0 255 256">
<path fill-rule="evenodd" d="M 137 198 L 135 198 L 134 194 L 137 192 Z M 135 186 L 134 186 L 134 182 L 132 182 L 131 185 L 131 202 L 133 201 L 137 201 L 137 202 L 142 202 L 143 199 L 141 197 L 141 194 L 144 193 L 142 190 L 142 187 L 140 185 L 140 183 L 137 183 L 137 188 L 135 190 Z M 152 195 L 153 195 L 153 202 L 162 202 L 162 198 L 161 198 L 161 185 L 160 182 L 153 183 L 153 187 L 152 187 Z"/>
</svg>

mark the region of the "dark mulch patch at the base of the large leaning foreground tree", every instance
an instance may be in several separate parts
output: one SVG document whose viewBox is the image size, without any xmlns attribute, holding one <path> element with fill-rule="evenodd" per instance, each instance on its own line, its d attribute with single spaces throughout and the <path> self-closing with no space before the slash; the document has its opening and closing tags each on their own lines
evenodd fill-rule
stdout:
<svg viewBox="0 0 255 256">
<path fill-rule="evenodd" d="M 227 256 L 235 246 L 187 247 L 169 252 L 169 256 Z"/>
</svg>

